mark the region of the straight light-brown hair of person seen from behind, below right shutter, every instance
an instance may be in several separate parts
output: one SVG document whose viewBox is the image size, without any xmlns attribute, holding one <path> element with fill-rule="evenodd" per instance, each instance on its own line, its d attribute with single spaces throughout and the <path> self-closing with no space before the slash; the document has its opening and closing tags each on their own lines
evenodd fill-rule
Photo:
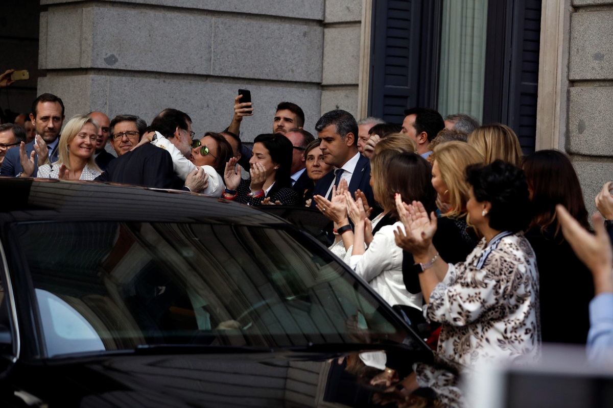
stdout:
<svg viewBox="0 0 613 408">
<path fill-rule="evenodd" d="M 507 125 L 480 126 L 468 135 L 468 144 L 483 155 L 486 165 L 499 158 L 519 168 L 522 166 L 522 149 L 519 146 L 519 139 Z"/>
</svg>

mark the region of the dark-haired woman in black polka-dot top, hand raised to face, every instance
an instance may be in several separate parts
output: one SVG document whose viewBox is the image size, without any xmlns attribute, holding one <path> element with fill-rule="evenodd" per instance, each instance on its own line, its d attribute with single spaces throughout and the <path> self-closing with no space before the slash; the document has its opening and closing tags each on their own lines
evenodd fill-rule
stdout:
<svg viewBox="0 0 613 408">
<path fill-rule="evenodd" d="M 249 160 L 250 180 L 240 178 L 237 158 L 226 163 L 223 197 L 237 200 L 249 206 L 259 206 L 264 199 L 284 206 L 299 206 L 300 196 L 292 190 L 289 176 L 292 165 L 292 143 L 280 133 L 258 135 L 253 143 L 253 155 Z"/>
</svg>

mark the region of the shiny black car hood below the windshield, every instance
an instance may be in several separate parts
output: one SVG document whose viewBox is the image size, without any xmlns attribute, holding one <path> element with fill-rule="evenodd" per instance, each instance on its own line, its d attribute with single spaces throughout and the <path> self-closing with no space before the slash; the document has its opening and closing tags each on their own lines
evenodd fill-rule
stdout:
<svg viewBox="0 0 613 408">
<path fill-rule="evenodd" d="M 375 391 L 338 355 L 294 352 L 48 360 L 9 378 L 49 407 L 371 406 Z"/>
</svg>

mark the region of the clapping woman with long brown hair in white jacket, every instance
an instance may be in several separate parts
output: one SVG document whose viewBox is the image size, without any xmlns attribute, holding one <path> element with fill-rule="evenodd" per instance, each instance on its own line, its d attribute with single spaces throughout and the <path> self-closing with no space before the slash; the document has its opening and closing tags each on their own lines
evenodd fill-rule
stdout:
<svg viewBox="0 0 613 408">
<path fill-rule="evenodd" d="M 354 201 L 349 193 L 345 193 L 349 217 L 354 223 L 349 266 L 390 305 L 409 305 L 421 309 L 421 291 L 412 293 L 406 289 L 402 276 L 403 253 L 394 245 L 394 231 L 402 228 L 402 223 L 395 222 L 397 210 L 394 192 L 407 201 L 420 200 L 428 210 L 435 210 L 436 191 L 430 182 L 431 167 L 417 154 L 398 153 L 395 150 L 382 150 L 372 158 L 370 165 L 373 193 L 383 208 L 381 217 L 390 218 L 393 224 L 382 220 L 377 224 L 378 231 L 373 234 L 362 200 Z M 351 242 L 351 234 L 346 235 L 349 237 L 343 235 L 343 240 L 347 238 Z M 365 243 L 367 250 L 364 249 Z"/>
</svg>

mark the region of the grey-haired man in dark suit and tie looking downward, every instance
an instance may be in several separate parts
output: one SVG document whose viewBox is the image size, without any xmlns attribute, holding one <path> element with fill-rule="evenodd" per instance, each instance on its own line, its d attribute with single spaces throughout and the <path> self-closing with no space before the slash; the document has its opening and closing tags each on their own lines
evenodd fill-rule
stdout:
<svg viewBox="0 0 613 408">
<path fill-rule="evenodd" d="M 370 187 L 370 161 L 357 150 L 357 122 L 347 111 L 336 109 L 319 118 L 315 125 L 324 155 L 324 162 L 334 166 L 326 176 L 319 179 L 313 190 L 313 195 L 332 198 L 332 187 L 345 179 L 349 192 L 354 195 L 356 190 L 364 192 L 368 204 L 373 207 L 373 214 L 381 212 L 375 206 L 373 189 Z M 311 207 L 315 201 L 311 202 Z"/>
</svg>

